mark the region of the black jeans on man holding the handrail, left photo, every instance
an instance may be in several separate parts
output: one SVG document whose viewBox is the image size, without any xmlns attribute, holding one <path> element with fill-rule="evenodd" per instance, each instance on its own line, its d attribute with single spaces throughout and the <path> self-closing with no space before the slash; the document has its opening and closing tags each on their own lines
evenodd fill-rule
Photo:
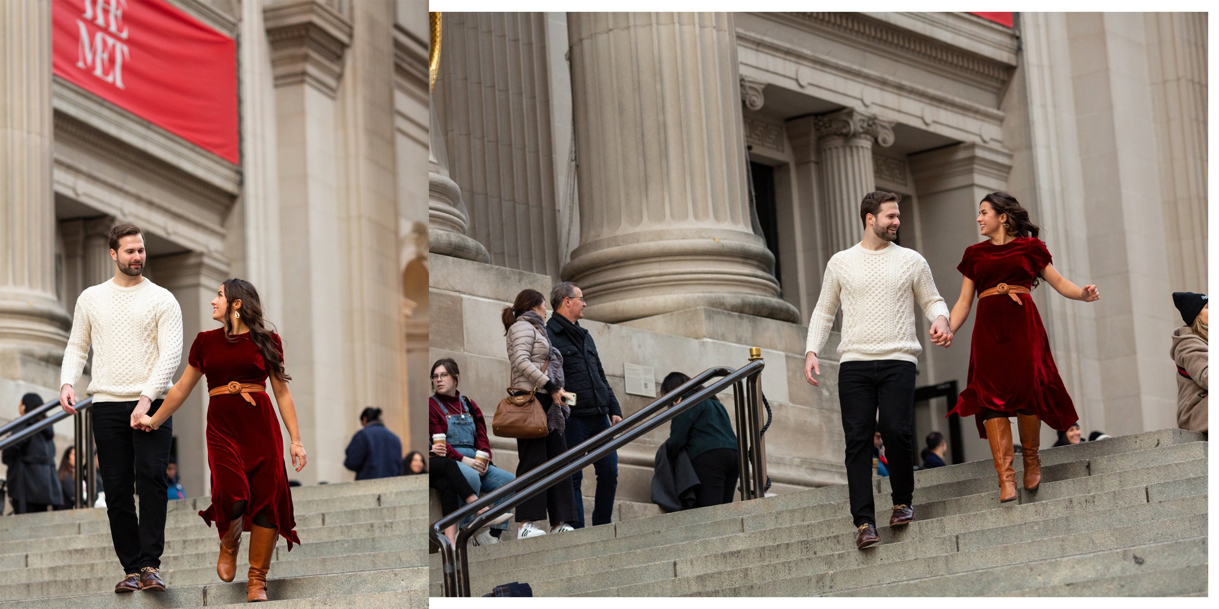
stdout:
<svg viewBox="0 0 1219 609">
<path fill-rule="evenodd" d="M 173 417 L 155 431 L 132 429 L 137 402 L 95 402 L 93 437 L 98 445 L 98 466 L 106 488 L 106 515 L 115 554 L 124 574 L 145 566 L 161 568 L 165 551 L 165 513 L 169 481 L 165 475 L 173 441 Z M 149 414 L 156 413 L 155 400 Z M 135 493 L 140 496 L 139 518 Z"/>
</svg>

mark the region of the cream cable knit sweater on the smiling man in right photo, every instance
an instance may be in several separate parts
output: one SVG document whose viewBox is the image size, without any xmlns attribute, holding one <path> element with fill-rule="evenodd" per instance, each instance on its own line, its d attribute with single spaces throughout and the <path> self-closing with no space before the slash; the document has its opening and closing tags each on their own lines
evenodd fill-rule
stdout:
<svg viewBox="0 0 1219 609">
<path fill-rule="evenodd" d="M 931 268 L 914 250 L 889 244 L 872 251 L 862 244 L 844 250 L 825 266 L 817 308 L 808 322 L 805 351 L 822 357 L 830 325 L 842 306 L 840 362 L 904 359 L 918 363 L 923 346 L 914 331 L 914 300 L 929 322 L 948 317 L 948 306 L 931 279 Z"/>
</svg>

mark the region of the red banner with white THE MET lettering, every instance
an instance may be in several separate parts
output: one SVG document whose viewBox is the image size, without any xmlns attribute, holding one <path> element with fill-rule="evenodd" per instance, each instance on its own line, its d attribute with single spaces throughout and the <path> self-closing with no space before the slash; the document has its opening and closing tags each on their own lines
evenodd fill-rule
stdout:
<svg viewBox="0 0 1219 609">
<path fill-rule="evenodd" d="M 55 73 L 236 163 L 236 41 L 165 0 L 54 0 Z"/>
</svg>

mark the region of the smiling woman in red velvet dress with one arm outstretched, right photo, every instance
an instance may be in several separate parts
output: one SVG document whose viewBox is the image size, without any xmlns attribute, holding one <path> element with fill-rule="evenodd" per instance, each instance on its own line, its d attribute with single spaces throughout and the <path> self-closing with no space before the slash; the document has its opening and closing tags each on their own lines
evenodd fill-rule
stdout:
<svg viewBox="0 0 1219 609">
<path fill-rule="evenodd" d="M 1000 501 L 1008 502 L 1017 497 L 1008 417 L 1017 417 L 1024 487 L 1029 491 L 1041 484 L 1041 421 L 1065 430 L 1078 419 L 1029 292 L 1045 280 L 1072 300 L 1093 302 L 1101 295 L 1095 285 L 1080 287 L 1054 269 L 1046 244 L 1037 239 L 1040 228 L 1014 196 L 986 195 L 979 206 L 978 225 L 987 240 L 965 248 L 957 267 L 964 275 L 961 298 L 948 320 L 950 333 L 956 333 L 969 317 L 976 291 L 968 386 L 948 414 L 974 415 L 978 435 L 990 441 Z"/>
</svg>

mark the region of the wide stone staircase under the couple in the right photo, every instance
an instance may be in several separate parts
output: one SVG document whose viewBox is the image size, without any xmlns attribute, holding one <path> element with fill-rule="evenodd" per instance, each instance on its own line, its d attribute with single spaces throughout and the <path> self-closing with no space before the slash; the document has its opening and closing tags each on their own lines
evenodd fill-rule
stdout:
<svg viewBox="0 0 1219 609">
<path fill-rule="evenodd" d="M 1000 504 L 991 462 L 914 474 L 918 520 L 855 548 L 845 485 L 471 548 L 471 585 L 536 596 L 1206 596 L 1202 435 L 1160 430 L 1042 451 Z M 1017 481 L 1020 459 L 1017 457 Z M 440 559 L 430 591 L 440 596 Z"/>
</svg>

